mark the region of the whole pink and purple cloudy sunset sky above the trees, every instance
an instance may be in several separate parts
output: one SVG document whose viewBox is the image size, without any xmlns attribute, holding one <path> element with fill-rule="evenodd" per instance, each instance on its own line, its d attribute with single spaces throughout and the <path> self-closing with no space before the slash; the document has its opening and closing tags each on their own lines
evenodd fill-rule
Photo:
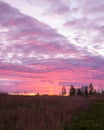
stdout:
<svg viewBox="0 0 104 130">
<path fill-rule="evenodd" d="M 0 0 L 0 91 L 90 82 L 104 84 L 104 0 Z"/>
</svg>

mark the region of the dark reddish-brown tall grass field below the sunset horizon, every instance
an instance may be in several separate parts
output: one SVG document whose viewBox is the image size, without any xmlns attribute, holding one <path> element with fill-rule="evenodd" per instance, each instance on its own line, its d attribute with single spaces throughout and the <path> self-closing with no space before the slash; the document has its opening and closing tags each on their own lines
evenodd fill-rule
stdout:
<svg viewBox="0 0 104 130">
<path fill-rule="evenodd" d="M 80 118 L 73 118 L 78 113 L 87 111 L 90 104 L 92 104 L 92 99 L 88 97 L 26 97 L 0 94 L 0 130 L 93 130 L 85 129 L 89 128 L 86 125 L 83 129 L 84 119 L 79 120 L 83 118 L 83 115 Z M 91 117 L 84 115 L 85 120 L 89 118 L 87 124 L 94 126 L 95 120 L 91 121 L 90 118 L 97 116 L 99 120 L 100 114 L 104 113 L 104 104 L 98 102 L 97 105 L 94 104 L 91 107 L 95 113 L 96 109 L 103 107 L 101 110 L 99 109 L 97 115 L 92 114 L 93 110 L 88 111 Z M 103 117 L 104 114 L 102 121 Z M 75 121 L 72 122 L 72 119 Z"/>
</svg>

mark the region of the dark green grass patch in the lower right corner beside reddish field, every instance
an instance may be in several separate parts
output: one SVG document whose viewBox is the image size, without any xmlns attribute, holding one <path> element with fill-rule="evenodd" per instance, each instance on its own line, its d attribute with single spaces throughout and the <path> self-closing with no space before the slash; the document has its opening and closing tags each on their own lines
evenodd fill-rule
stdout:
<svg viewBox="0 0 104 130">
<path fill-rule="evenodd" d="M 91 104 L 87 112 L 74 117 L 68 130 L 104 130 L 104 101 Z"/>
</svg>

